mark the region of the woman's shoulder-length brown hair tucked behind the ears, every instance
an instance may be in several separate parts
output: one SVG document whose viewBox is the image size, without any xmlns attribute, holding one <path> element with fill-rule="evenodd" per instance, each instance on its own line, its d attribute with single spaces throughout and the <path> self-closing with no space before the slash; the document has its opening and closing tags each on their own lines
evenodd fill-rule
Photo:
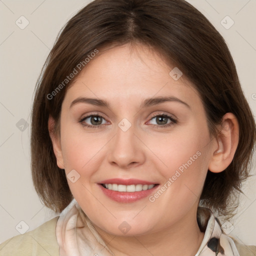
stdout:
<svg viewBox="0 0 256 256">
<path fill-rule="evenodd" d="M 249 176 L 255 122 L 224 39 L 184 0 L 94 0 L 63 27 L 37 80 L 32 108 L 31 169 L 40 199 L 60 212 L 73 198 L 65 172 L 56 164 L 47 128 L 50 114 L 59 132 L 61 104 L 74 78 L 66 86 L 63 81 L 95 49 L 128 42 L 152 46 L 194 84 L 211 135 L 216 136 L 216 124 L 226 112 L 237 117 L 239 142 L 234 158 L 224 171 L 207 172 L 200 197 L 202 204 L 230 217 L 237 206 L 230 198 L 241 192 L 241 182 Z"/>
</svg>

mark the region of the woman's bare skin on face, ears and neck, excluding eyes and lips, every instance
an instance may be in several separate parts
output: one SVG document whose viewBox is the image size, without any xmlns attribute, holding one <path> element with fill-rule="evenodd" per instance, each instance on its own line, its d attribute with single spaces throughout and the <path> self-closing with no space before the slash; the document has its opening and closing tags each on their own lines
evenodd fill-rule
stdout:
<svg viewBox="0 0 256 256">
<path fill-rule="evenodd" d="M 194 255 L 204 234 L 196 209 L 207 170 L 224 170 L 237 147 L 235 116 L 226 113 L 219 126 L 222 135 L 212 138 L 197 91 L 184 75 L 174 80 L 169 75 L 173 67 L 144 45 L 102 49 L 66 91 L 60 136 L 52 133 L 54 120 L 49 117 L 57 165 L 66 174 L 72 169 L 79 173 L 76 182 L 67 179 L 70 190 L 115 255 Z M 177 101 L 139 107 L 145 98 L 166 95 L 189 107 Z M 70 107 L 78 97 L 103 99 L 110 108 L 83 102 Z M 90 114 L 103 115 L 101 126 L 86 128 L 79 122 Z M 170 115 L 177 122 L 160 127 L 154 114 Z M 123 118 L 131 124 L 127 131 L 118 127 Z M 87 118 L 83 124 L 93 125 L 92 121 Z M 162 186 L 197 151 L 200 156 L 154 202 L 148 197 L 116 202 L 97 185 L 119 177 Z M 131 227 L 126 234 L 118 228 L 123 221 Z"/>
</svg>

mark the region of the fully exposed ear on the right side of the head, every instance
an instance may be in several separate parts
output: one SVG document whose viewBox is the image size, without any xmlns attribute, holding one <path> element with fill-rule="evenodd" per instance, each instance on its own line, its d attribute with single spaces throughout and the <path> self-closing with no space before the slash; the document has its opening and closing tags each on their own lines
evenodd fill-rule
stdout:
<svg viewBox="0 0 256 256">
<path fill-rule="evenodd" d="M 222 117 L 217 141 L 215 140 L 213 143 L 213 153 L 208 166 L 211 172 L 221 172 L 231 163 L 238 141 L 239 124 L 237 118 L 233 113 L 226 113 Z"/>
</svg>

